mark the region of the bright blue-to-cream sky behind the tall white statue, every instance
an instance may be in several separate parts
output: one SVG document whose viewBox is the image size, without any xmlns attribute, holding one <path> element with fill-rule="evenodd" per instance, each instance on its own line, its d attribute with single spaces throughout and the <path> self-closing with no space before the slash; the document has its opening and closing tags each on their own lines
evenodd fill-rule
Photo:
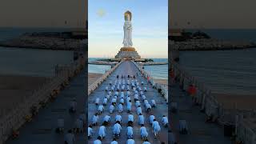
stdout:
<svg viewBox="0 0 256 144">
<path fill-rule="evenodd" d="M 167 0 L 89 0 L 88 55 L 114 58 L 123 46 L 123 14 L 132 13 L 133 47 L 142 58 L 168 58 Z"/>
</svg>

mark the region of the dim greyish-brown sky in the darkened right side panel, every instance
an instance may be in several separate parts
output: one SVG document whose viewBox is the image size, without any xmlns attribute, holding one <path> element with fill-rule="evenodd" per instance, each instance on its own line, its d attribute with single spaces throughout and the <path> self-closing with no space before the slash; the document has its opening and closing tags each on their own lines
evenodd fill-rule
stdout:
<svg viewBox="0 0 256 144">
<path fill-rule="evenodd" d="M 169 6 L 172 27 L 256 28 L 255 0 L 171 0 Z"/>
</svg>

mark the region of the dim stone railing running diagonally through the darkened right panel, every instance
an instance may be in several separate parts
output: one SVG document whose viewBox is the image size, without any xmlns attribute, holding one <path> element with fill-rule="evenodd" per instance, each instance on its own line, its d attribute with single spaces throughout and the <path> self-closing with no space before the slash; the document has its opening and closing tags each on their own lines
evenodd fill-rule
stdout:
<svg viewBox="0 0 256 144">
<path fill-rule="evenodd" d="M 176 82 L 180 84 L 183 90 L 188 90 L 191 83 L 196 86 L 197 94 L 194 95 L 194 102 L 201 106 L 201 110 L 205 111 L 206 115 L 217 120 L 221 125 L 235 126 L 235 136 L 237 142 L 244 144 L 256 143 L 256 133 L 246 124 L 243 117 L 250 118 L 256 115 L 253 110 L 237 110 L 236 108 L 226 110 L 217 99 L 211 95 L 210 89 L 202 82 L 182 70 L 178 63 L 171 62 L 171 70 L 174 72 Z"/>
</svg>

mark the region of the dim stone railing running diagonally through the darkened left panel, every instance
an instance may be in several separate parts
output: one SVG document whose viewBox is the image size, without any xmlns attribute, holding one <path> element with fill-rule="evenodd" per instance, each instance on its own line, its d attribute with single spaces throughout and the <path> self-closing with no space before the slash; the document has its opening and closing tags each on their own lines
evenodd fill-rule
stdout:
<svg viewBox="0 0 256 144">
<path fill-rule="evenodd" d="M 69 65 L 56 66 L 54 78 L 40 86 L 38 90 L 34 90 L 31 95 L 23 98 L 12 110 L 3 114 L 0 118 L 0 144 L 4 143 L 14 131 L 18 131 L 26 122 L 30 122 L 42 106 L 45 106 L 50 100 L 54 100 L 59 91 L 68 85 L 70 78 L 83 69 L 85 62 L 82 57 Z"/>
</svg>

